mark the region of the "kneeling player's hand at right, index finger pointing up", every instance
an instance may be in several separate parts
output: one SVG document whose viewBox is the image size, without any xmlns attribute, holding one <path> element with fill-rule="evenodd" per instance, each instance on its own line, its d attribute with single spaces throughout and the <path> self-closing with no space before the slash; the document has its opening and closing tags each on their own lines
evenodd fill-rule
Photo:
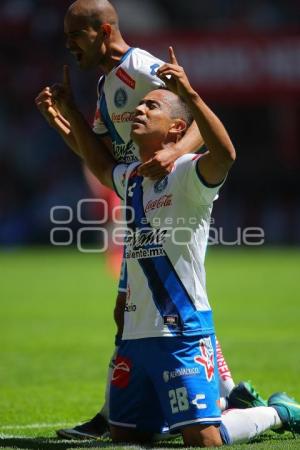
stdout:
<svg viewBox="0 0 300 450">
<path fill-rule="evenodd" d="M 169 47 L 170 63 L 163 64 L 157 70 L 157 76 L 163 80 L 168 89 L 177 95 L 185 98 L 187 95 L 193 94 L 188 77 L 183 69 L 179 66 L 173 47 Z"/>
</svg>

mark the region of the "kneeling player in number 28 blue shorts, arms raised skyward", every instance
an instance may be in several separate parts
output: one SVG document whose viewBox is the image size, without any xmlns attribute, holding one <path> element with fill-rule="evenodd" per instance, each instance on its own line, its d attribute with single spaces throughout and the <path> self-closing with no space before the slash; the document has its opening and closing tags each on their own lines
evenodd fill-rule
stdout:
<svg viewBox="0 0 300 450">
<path fill-rule="evenodd" d="M 235 150 L 172 49 L 170 55 L 172 64 L 163 65 L 158 76 L 174 93 L 148 93 L 136 108 L 131 135 L 146 162 L 158 149 L 172 147 L 194 117 L 208 151 L 178 158 L 159 181 L 143 177 L 139 162 L 116 164 L 84 141 L 86 123 L 74 104 L 67 68 L 63 85 L 54 93 L 85 161 L 126 205 L 128 308 L 111 381 L 112 440 L 151 442 L 165 422 L 189 447 L 241 442 L 267 429 L 299 432 L 300 405 L 279 393 L 270 397 L 269 407 L 229 410 L 221 422 L 204 258 L 213 202 Z M 176 225 L 178 218 L 185 219 L 185 227 Z"/>
</svg>

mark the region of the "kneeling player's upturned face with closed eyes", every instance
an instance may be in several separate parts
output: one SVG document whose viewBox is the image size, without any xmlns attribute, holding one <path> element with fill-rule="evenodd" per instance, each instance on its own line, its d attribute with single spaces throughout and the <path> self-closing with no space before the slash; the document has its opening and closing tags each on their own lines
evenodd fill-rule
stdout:
<svg viewBox="0 0 300 450">
<path fill-rule="evenodd" d="M 147 94 L 137 106 L 131 137 L 139 145 L 146 138 L 155 146 L 165 140 L 172 123 L 166 92 L 157 89 Z"/>
</svg>

